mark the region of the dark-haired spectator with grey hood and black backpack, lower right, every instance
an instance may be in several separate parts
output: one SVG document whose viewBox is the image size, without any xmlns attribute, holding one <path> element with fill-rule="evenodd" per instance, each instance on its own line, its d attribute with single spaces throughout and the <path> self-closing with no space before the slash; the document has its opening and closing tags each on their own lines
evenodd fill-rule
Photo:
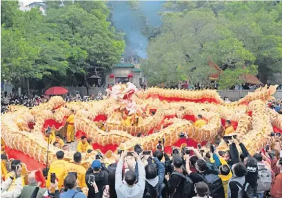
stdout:
<svg viewBox="0 0 282 198">
<path fill-rule="evenodd" d="M 228 184 L 228 198 L 243 197 L 247 168 L 242 163 L 237 163 L 232 166 L 232 172 L 233 176 Z"/>
</svg>

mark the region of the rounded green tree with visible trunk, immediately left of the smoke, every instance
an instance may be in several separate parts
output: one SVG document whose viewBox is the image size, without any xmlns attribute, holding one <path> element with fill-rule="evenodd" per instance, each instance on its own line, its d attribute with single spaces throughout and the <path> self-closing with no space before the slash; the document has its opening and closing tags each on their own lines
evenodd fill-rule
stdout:
<svg viewBox="0 0 282 198">
<path fill-rule="evenodd" d="M 83 5 L 74 3 L 60 9 L 50 9 L 47 12 L 46 22 L 55 24 L 54 30 L 59 32 L 62 41 L 87 52 L 88 56 L 85 60 L 69 61 L 70 71 L 83 76 L 89 91 L 88 69 L 101 66 L 105 70 L 110 70 L 119 60 L 125 43 L 122 39 L 117 40 L 119 34 L 116 34 L 110 22 L 106 21 L 108 12 L 104 9 L 92 9 L 87 12 L 82 7 Z"/>
</svg>

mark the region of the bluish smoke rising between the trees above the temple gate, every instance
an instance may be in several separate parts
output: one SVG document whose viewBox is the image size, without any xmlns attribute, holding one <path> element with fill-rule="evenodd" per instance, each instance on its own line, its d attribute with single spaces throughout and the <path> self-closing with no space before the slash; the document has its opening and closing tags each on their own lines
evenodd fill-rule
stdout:
<svg viewBox="0 0 282 198">
<path fill-rule="evenodd" d="M 112 9 L 112 24 L 117 31 L 125 33 L 125 59 L 147 58 L 148 38 L 142 34 L 145 23 L 161 26 L 158 12 L 163 11 L 165 1 L 139 1 L 139 8 L 130 8 L 127 1 L 108 1 Z M 145 16 L 141 17 L 141 16 Z"/>
</svg>

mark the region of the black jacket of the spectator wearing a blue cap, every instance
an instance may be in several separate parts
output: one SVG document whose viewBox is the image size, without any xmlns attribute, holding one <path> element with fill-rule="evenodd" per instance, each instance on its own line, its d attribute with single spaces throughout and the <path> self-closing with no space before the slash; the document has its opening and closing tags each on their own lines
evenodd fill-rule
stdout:
<svg viewBox="0 0 282 198">
<path fill-rule="evenodd" d="M 94 179 L 95 182 L 97 184 L 99 193 L 97 193 L 96 195 L 98 195 L 98 197 L 96 198 L 102 198 L 103 197 L 103 188 L 105 187 L 105 185 L 108 185 L 108 177 L 109 177 L 109 173 L 106 171 L 101 170 L 98 173 L 94 173 L 93 169 L 90 167 L 88 168 L 86 175 L 85 175 L 85 182 L 89 188 L 88 191 L 88 198 L 93 198 L 95 197 L 95 190 L 92 186 L 92 184 L 88 184 L 88 180 L 89 180 L 89 175 L 94 175 Z"/>
</svg>

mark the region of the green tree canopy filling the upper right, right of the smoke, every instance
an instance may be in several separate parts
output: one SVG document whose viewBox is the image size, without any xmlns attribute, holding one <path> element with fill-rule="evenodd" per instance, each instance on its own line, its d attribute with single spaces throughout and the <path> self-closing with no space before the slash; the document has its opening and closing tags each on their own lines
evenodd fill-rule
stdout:
<svg viewBox="0 0 282 198">
<path fill-rule="evenodd" d="M 168 1 L 161 34 L 151 39 L 143 70 L 149 83 L 208 81 L 208 60 L 223 70 L 219 86 L 261 81 L 282 72 L 282 3 L 273 1 Z"/>
</svg>

